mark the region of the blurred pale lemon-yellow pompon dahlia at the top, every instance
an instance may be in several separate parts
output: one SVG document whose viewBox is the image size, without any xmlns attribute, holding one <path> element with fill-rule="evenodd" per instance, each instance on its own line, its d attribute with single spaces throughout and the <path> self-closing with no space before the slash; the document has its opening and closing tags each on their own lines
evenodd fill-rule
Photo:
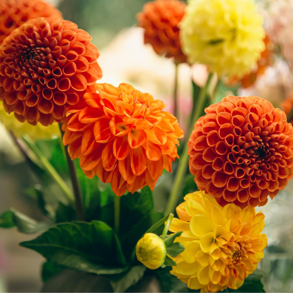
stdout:
<svg viewBox="0 0 293 293">
<path fill-rule="evenodd" d="M 265 50 L 262 22 L 253 0 L 190 1 L 180 23 L 182 51 L 191 64 L 241 78 Z"/>
</svg>

